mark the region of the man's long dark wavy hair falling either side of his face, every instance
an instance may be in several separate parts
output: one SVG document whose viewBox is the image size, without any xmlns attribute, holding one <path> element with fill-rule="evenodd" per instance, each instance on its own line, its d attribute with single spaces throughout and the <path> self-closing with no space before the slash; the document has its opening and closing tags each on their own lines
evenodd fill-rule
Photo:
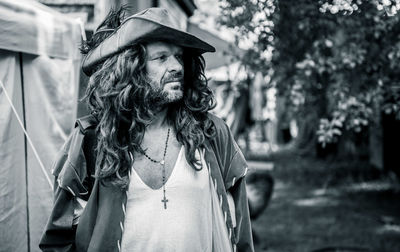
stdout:
<svg viewBox="0 0 400 252">
<path fill-rule="evenodd" d="M 198 170 L 201 165 L 195 150 L 216 134 L 207 116 L 215 101 L 204 75 L 204 58 L 190 50 L 184 50 L 183 57 L 184 95 L 182 100 L 167 105 L 167 120 L 184 146 L 189 164 Z M 135 153 L 141 151 L 145 128 L 160 109 L 154 104 L 162 98 L 154 96 L 145 62 L 144 44 L 109 57 L 90 77 L 84 97 L 99 120 L 96 175 L 103 183 L 123 190 L 129 185 L 128 173 Z"/>
</svg>

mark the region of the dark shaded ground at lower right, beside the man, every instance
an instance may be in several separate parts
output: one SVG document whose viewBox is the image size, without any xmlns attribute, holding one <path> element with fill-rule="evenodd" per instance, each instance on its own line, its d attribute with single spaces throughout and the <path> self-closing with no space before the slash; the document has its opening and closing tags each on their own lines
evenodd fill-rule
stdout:
<svg viewBox="0 0 400 252">
<path fill-rule="evenodd" d="M 256 251 L 400 251 L 400 185 L 393 179 L 316 188 L 275 179 L 253 221 Z"/>
</svg>

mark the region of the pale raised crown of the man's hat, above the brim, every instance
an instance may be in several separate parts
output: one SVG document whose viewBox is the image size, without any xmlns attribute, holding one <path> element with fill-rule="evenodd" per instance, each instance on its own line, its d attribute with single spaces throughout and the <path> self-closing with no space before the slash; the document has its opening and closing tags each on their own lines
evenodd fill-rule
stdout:
<svg viewBox="0 0 400 252">
<path fill-rule="evenodd" d="M 142 18 L 151 22 L 155 22 L 158 24 L 162 24 L 164 26 L 169 26 L 174 29 L 180 30 L 180 28 L 175 24 L 168 10 L 164 8 L 156 8 L 156 7 L 148 8 L 131 16 L 130 18 Z"/>
</svg>

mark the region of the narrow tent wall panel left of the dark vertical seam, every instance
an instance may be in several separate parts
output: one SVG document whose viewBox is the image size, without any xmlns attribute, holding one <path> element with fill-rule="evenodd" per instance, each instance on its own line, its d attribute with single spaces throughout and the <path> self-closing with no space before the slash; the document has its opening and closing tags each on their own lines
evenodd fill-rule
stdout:
<svg viewBox="0 0 400 252">
<path fill-rule="evenodd" d="M 0 51 L 0 79 L 22 117 L 17 53 Z M 27 251 L 24 134 L 0 89 L 0 251 Z M 19 232 L 13 232 L 18 230 Z"/>
</svg>

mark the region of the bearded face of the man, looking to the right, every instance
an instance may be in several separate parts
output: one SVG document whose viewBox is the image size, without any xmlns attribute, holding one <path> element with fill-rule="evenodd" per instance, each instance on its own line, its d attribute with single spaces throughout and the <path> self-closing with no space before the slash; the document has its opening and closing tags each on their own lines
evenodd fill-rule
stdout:
<svg viewBox="0 0 400 252">
<path fill-rule="evenodd" d="M 153 42 L 146 45 L 146 72 L 151 85 L 161 92 L 164 104 L 183 97 L 182 48 L 165 43 Z"/>
</svg>

